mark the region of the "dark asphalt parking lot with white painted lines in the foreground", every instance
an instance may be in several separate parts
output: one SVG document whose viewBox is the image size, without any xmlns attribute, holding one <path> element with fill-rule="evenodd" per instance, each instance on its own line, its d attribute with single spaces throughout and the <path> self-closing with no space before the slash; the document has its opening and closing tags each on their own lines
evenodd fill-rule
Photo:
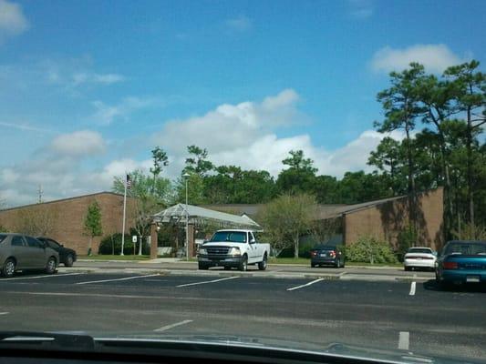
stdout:
<svg viewBox="0 0 486 364">
<path fill-rule="evenodd" d="M 20 274 L 0 279 L 2 329 L 211 334 L 484 357 L 486 290 L 417 281 Z"/>
</svg>

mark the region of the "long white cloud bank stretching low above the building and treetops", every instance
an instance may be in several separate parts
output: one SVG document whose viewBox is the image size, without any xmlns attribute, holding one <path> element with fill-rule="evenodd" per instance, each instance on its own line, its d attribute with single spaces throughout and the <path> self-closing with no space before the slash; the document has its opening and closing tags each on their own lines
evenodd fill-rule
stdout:
<svg viewBox="0 0 486 364">
<path fill-rule="evenodd" d="M 346 171 L 370 171 L 369 152 L 385 136 L 376 131 L 367 130 L 336 150 L 315 146 L 305 133 L 278 136 L 275 132 L 278 128 L 302 125 L 305 116 L 299 112 L 298 102 L 295 90 L 285 89 L 260 102 L 224 104 L 202 116 L 171 120 L 152 136 L 147 150 L 155 145 L 167 150 L 171 164 L 164 176 L 171 178 L 180 174 L 187 157 L 186 147 L 192 144 L 207 148 L 216 165 L 264 169 L 274 176 L 282 170 L 282 160 L 293 149 L 302 149 L 306 157 L 314 159 L 320 174 L 342 177 Z M 335 124 L 336 120 L 327 122 Z M 400 133 L 391 136 L 402 137 Z M 99 158 L 106 148 L 103 137 L 93 130 L 56 136 L 31 160 L 0 168 L 0 197 L 11 206 L 32 203 L 36 201 L 39 184 L 44 187 L 46 199 L 77 196 L 109 190 L 113 177 L 127 171 L 138 168 L 149 171 L 149 153 L 142 160 L 122 157 L 101 164 Z M 99 167 L 87 169 L 85 162 L 89 161 L 97 161 Z"/>
</svg>

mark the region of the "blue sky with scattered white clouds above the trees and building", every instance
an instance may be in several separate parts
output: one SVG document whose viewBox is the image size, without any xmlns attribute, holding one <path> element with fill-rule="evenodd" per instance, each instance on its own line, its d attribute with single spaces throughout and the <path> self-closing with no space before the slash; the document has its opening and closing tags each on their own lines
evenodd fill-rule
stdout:
<svg viewBox="0 0 486 364">
<path fill-rule="evenodd" d="M 484 64 L 484 14 L 484 1 L 0 0 L 0 198 L 109 189 L 155 145 L 168 177 L 189 144 L 273 174 L 292 148 L 323 174 L 367 168 L 388 72 Z"/>
</svg>

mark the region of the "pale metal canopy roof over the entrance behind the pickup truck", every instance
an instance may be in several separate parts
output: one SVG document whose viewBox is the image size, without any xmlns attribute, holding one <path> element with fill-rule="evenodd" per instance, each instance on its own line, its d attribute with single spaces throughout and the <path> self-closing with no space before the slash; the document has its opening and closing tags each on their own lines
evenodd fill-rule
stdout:
<svg viewBox="0 0 486 364">
<path fill-rule="evenodd" d="M 185 224 L 186 217 L 189 216 L 189 223 L 194 225 L 204 225 L 207 222 L 219 224 L 220 227 L 230 228 L 249 228 L 261 229 L 253 219 L 246 215 L 233 215 L 225 212 L 214 211 L 193 205 L 177 204 L 153 216 L 155 223 L 176 223 Z"/>
</svg>

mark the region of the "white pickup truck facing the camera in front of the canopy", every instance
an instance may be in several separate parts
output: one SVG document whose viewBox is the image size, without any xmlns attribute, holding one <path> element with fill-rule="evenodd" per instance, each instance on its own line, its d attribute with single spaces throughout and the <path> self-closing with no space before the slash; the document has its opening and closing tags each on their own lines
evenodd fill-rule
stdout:
<svg viewBox="0 0 486 364">
<path fill-rule="evenodd" d="M 248 265 L 266 269 L 270 244 L 257 242 L 252 230 L 218 230 L 209 241 L 199 248 L 200 269 L 210 267 L 238 268 L 246 270 Z"/>
</svg>

